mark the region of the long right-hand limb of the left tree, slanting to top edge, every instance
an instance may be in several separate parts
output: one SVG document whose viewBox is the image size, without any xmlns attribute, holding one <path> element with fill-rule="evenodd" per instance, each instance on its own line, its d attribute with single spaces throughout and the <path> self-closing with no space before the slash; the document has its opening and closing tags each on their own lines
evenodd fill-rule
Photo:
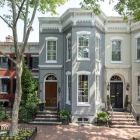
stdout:
<svg viewBox="0 0 140 140">
<path fill-rule="evenodd" d="M 39 4 L 39 1 L 40 1 L 40 0 L 36 0 L 36 3 L 35 3 L 35 7 L 34 7 L 34 10 L 33 10 L 33 13 L 32 13 L 32 17 L 31 17 L 31 21 L 30 21 L 30 24 L 29 24 L 29 27 L 28 27 L 28 30 L 27 30 L 27 33 L 26 33 L 26 36 L 25 36 L 25 39 L 24 39 L 23 48 L 22 48 L 22 50 L 21 50 L 21 57 L 20 57 L 20 60 L 22 60 L 23 54 L 24 54 L 25 49 L 26 49 L 26 46 L 27 46 L 27 41 L 28 41 L 28 38 L 29 38 L 29 35 L 30 35 L 30 32 L 31 32 L 31 29 L 32 29 L 32 24 L 33 24 L 35 15 L 36 15 L 37 6 L 38 6 L 38 4 Z"/>
</svg>

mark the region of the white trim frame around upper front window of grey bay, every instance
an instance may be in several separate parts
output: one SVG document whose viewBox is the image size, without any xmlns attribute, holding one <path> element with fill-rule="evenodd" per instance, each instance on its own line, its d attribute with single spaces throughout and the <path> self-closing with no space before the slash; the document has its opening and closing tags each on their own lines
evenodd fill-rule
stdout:
<svg viewBox="0 0 140 140">
<path fill-rule="evenodd" d="M 80 35 L 90 35 L 91 34 L 91 32 L 89 32 L 89 31 L 78 31 L 78 32 L 76 32 L 77 33 L 77 60 L 79 61 L 90 61 L 90 44 L 89 44 L 89 52 L 88 52 L 88 58 L 79 58 L 79 52 L 78 52 L 78 50 L 79 50 L 79 36 Z M 90 40 L 90 36 L 89 36 L 89 40 Z M 89 41 L 89 43 L 90 43 L 90 41 Z"/>
</svg>

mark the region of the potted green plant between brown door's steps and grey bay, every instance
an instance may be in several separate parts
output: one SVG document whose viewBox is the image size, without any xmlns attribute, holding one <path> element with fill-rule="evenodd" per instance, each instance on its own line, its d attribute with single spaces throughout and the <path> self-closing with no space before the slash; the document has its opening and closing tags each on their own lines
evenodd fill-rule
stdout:
<svg viewBox="0 0 140 140">
<path fill-rule="evenodd" d="M 61 110 L 60 111 L 60 119 L 62 120 L 63 125 L 69 125 L 69 111 Z"/>
</svg>

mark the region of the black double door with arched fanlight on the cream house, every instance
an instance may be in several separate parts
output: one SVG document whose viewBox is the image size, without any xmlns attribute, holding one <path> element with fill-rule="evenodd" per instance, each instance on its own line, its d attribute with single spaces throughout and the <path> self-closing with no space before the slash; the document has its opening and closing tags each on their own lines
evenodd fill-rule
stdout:
<svg viewBox="0 0 140 140">
<path fill-rule="evenodd" d="M 123 108 L 123 81 L 117 75 L 110 79 L 110 99 L 113 108 Z"/>
</svg>

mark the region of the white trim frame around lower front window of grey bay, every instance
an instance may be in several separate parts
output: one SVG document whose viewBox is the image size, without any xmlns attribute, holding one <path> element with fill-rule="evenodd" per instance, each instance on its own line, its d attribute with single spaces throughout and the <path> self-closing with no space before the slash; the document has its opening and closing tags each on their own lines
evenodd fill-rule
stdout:
<svg viewBox="0 0 140 140">
<path fill-rule="evenodd" d="M 77 73 L 77 106 L 90 106 L 90 88 L 89 88 L 89 75 L 91 72 L 89 71 L 78 71 Z M 78 102 L 78 76 L 79 75 L 87 75 L 88 76 L 88 102 Z"/>
</svg>

